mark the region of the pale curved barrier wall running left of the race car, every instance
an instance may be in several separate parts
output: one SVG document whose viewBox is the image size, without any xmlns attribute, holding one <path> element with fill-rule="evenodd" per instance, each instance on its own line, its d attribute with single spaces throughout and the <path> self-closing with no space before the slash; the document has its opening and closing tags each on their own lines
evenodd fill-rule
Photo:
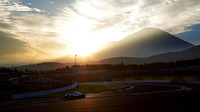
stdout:
<svg viewBox="0 0 200 112">
<path fill-rule="evenodd" d="M 14 94 L 12 96 L 12 99 L 22 99 L 22 98 L 29 98 L 29 97 L 34 97 L 34 96 L 53 94 L 53 93 L 58 93 L 58 92 L 70 90 L 70 89 L 73 89 L 73 88 L 75 88 L 77 86 L 79 86 L 79 84 L 76 82 L 76 83 L 74 83 L 74 84 L 72 84 L 70 86 L 62 87 L 62 88 L 58 88 L 58 89 L 38 91 L 38 92 L 32 92 L 32 93 Z"/>
</svg>

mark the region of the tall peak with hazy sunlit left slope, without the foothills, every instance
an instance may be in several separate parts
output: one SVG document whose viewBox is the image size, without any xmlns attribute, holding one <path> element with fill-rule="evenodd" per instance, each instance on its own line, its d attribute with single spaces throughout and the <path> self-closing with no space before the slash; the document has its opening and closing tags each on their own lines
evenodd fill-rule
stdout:
<svg viewBox="0 0 200 112">
<path fill-rule="evenodd" d="M 97 59 L 112 57 L 149 57 L 167 52 L 182 51 L 194 45 L 157 28 L 145 28 L 126 38 L 107 45 L 92 54 Z"/>
</svg>

